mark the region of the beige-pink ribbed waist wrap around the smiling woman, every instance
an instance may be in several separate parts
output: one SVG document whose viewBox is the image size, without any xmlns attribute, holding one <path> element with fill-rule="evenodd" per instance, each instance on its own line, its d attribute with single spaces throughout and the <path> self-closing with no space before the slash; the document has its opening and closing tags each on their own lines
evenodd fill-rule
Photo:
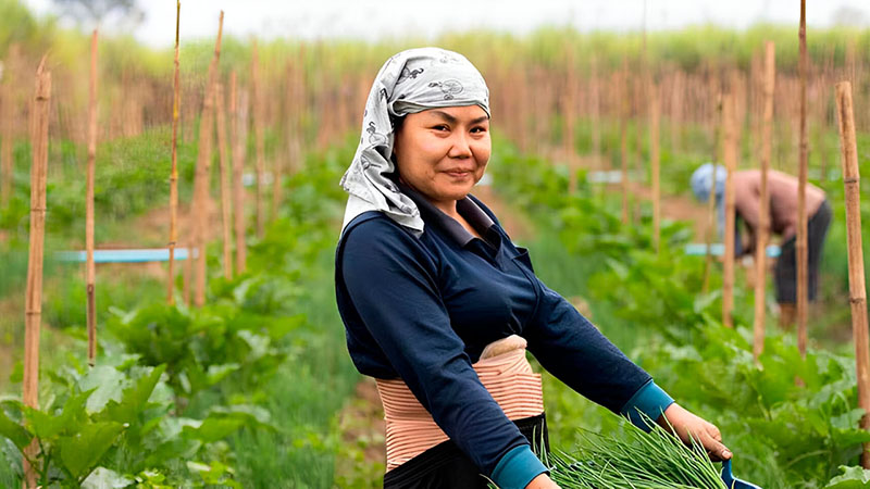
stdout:
<svg viewBox="0 0 870 489">
<path fill-rule="evenodd" d="M 532 372 L 525 359 L 524 339 L 513 335 L 496 341 L 472 366 L 509 419 L 544 412 L 540 375 Z M 376 381 L 386 421 L 387 472 L 448 439 L 403 380 Z"/>
</svg>

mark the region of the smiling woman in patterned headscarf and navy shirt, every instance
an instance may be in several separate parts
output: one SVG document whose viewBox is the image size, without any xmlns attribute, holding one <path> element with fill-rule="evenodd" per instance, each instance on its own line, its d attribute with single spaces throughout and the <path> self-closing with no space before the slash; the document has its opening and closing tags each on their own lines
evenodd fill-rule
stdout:
<svg viewBox="0 0 870 489">
<path fill-rule="evenodd" d="M 533 451 L 546 450 L 546 421 L 526 348 L 593 401 L 729 459 L 718 429 L 538 280 L 469 193 L 489 152 L 488 90 L 465 58 L 422 48 L 384 64 L 341 179 L 335 277 L 348 350 L 385 408 L 384 486 L 557 487 Z"/>
</svg>

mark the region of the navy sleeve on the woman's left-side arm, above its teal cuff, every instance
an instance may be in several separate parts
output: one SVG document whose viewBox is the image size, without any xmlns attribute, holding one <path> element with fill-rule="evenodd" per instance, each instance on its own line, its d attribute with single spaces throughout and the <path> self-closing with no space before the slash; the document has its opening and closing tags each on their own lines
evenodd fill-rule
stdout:
<svg viewBox="0 0 870 489">
<path fill-rule="evenodd" d="M 343 238 L 347 293 L 377 347 L 438 426 L 486 475 L 527 441 L 484 388 L 439 294 L 437 265 L 382 218 Z"/>
</svg>

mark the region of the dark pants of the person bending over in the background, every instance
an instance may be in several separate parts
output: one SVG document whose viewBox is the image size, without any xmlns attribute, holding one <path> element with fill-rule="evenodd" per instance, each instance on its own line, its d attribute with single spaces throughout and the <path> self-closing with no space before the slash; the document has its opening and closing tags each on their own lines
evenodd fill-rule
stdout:
<svg viewBox="0 0 870 489">
<path fill-rule="evenodd" d="M 822 202 L 816 214 L 807 222 L 807 297 L 816 300 L 819 288 L 819 261 L 824 248 L 824 237 L 831 224 L 831 204 L 828 200 Z M 797 249 L 796 237 L 788 238 L 780 247 L 780 258 L 774 268 L 774 285 L 776 287 L 776 302 L 780 304 L 794 304 L 797 302 Z"/>
</svg>

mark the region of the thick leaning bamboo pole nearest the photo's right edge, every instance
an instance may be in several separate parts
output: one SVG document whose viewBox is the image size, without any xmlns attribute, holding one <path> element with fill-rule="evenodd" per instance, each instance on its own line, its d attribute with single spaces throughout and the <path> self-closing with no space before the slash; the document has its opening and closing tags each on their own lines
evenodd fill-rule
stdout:
<svg viewBox="0 0 870 489">
<path fill-rule="evenodd" d="M 855 363 L 858 374 L 858 406 L 865 410 L 860 427 L 870 429 L 870 352 L 867 330 L 867 292 L 865 291 L 863 252 L 861 251 L 861 193 L 858 175 L 858 148 L 855 140 L 855 115 L 852 84 L 836 84 L 836 113 L 840 122 L 840 148 L 843 158 L 843 185 L 846 193 L 846 230 L 849 258 L 849 305 Z M 870 468 L 870 443 L 863 444 L 861 466 Z"/>
</svg>

